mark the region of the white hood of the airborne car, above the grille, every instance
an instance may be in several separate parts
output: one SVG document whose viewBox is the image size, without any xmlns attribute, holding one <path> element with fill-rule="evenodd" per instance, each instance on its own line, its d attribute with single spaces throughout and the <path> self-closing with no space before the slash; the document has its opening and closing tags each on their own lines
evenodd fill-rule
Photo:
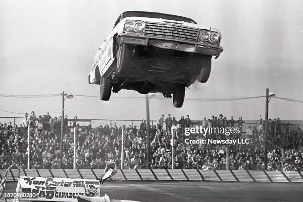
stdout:
<svg viewBox="0 0 303 202">
<path fill-rule="evenodd" d="M 149 17 L 126 17 L 123 20 L 142 20 L 144 22 L 156 22 L 156 23 L 171 23 L 175 25 L 181 25 L 186 27 L 193 27 L 198 29 L 210 30 L 210 27 L 201 26 L 194 23 L 184 22 L 184 21 L 175 21 L 175 20 L 166 20 L 161 18 L 149 18 Z"/>
</svg>

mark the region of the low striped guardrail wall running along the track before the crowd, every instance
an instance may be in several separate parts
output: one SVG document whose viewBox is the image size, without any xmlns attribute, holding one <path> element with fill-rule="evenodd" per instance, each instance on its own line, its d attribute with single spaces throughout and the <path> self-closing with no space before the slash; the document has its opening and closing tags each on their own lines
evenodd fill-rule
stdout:
<svg viewBox="0 0 303 202">
<path fill-rule="evenodd" d="M 20 176 L 53 178 L 97 179 L 103 169 L 51 169 L 21 170 Z M 6 170 L 0 170 L 0 178 Z M 7 173 L 7 181 L 17 181 L 18 170 Z M 303 172 L 297 171 L 256 171 L 256 170 L 194 170 L 194 169 L 118 169 L 111 180 L 152 180 L 152 181 L 218 181 L 218 182 L 303 182 Z"/>
</svg>

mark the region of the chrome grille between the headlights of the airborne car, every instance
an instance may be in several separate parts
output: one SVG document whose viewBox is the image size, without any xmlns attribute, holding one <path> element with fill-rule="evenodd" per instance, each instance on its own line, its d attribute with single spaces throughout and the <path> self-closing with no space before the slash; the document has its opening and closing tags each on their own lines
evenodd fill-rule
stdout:
<svg viewBox="0 0 303 202">
<path fill-rule="evenodd" d="M 197 41 L 199 29 L 161 23 L 145 23 L 145 35 Z"/>
</svg>

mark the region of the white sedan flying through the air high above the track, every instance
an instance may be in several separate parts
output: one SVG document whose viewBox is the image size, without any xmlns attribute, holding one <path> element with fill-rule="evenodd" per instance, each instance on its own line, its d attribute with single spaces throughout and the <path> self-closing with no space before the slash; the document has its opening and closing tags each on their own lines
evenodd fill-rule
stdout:
<svg viewBox="0 0 303 202">
<path fill-rule="evenodd" d="M 141 94 L 161 92 L 181 107 L 185 88 L 205 83 L 211 58 L 223 51 L 219 30 L 187 17 L 156 12 L 123 12 L 99 48 L 89 84 L 100 84 L 108 101 L 122 89 Z M 172 95 L 172 96 L 171 96 Z"/>
</svg>

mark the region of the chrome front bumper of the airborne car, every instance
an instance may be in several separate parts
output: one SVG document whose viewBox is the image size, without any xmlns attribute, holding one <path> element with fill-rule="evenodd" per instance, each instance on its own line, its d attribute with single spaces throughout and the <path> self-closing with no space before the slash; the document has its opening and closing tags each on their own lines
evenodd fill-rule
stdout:
<svg viewBox="0 0 303 202">
<path fill-rule="evenodd" d="M 141 36 L 141 35 L 128 35 L 128 34 L 119 34 L 116 37 L 119 45 L 121 44 L 132 44 L 132 45 L 141 45 L 149 46 L 153 45 L 162 49 L 169 50 L 178 50 L 185 52 L 196 52 L 201 54 L 213 55 L 215 58 L 219 57 L 223 48 L 220 46 L 215 46 L 211 44 L 203 44 L 197 42 L 190 42 L 185 40 L 178 39 L 167 39 L 162 37 L 155 36 Z"/>
</svg>

